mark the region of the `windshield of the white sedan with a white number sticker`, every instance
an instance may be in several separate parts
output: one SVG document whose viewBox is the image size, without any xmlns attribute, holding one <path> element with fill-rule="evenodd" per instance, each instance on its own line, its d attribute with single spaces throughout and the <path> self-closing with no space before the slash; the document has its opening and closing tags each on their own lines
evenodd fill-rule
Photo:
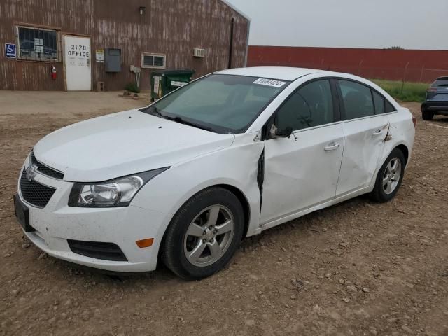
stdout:
<svg viewBox="0 0 448 336">
<path fill-rule="evenodd" d="M 140 111 L 221 134 L 246 132 L 286 80 L 210 75 Z"/>
</svg>

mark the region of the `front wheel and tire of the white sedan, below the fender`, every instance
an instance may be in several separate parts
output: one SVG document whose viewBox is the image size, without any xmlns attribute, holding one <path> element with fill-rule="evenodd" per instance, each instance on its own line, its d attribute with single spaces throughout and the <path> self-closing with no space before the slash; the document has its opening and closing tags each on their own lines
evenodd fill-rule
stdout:
<svg viewBox="0 0 448 336">
<path fill-rule="evenodd" d="M 162 260 L 183 279 L 202 279 L 228 264 L 243 233 L 244 211 L 238 197 L 225 188 L 202 190 L 174 215 Z"/>
</svg>

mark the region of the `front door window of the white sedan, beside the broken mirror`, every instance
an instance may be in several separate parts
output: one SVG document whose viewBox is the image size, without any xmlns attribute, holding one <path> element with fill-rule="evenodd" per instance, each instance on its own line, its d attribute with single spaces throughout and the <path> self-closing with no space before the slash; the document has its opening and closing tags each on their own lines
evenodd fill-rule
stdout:
<svg viewBox="0 0 448 336">
<path fill-rule="evenodd" d="M 306 84 L 293 93 L 277 112 L 275 125 L 279 130 L 291 127 L 296 131 L 333 121 L 331 87 L 325 79 Z"/>
</svg>

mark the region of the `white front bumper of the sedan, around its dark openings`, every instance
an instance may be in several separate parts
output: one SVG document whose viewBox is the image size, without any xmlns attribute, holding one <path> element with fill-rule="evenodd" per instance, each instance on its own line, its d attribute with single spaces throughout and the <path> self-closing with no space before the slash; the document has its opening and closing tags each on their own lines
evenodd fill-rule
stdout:
<svg viewBox="0 0 448 336">
<path fill-rule="evenodd" d="M 37 208 L 22 197 L 18 186 L 20 200 L 29 208 L 29 225 L 36 230 L 24 230 L 24 233 L 42 251 L 55 258 L 114 272 L 147 272 L 157 267 L 162 240 L 160 228 L 166 219 L 164 214 L 132 205 L 119 208 L 69 207 L 72 182 L 42 174 L 37 174 L 34 181 L 56 188 L 48 204 Z M 137 246 L 137 240 L 148 238 L 154 238 L 153 246 Z M 103 260 L 73 253 L 69 240 L 116 244 L 125 255 L 123 260 L 127 261 Z"/>
</svg>

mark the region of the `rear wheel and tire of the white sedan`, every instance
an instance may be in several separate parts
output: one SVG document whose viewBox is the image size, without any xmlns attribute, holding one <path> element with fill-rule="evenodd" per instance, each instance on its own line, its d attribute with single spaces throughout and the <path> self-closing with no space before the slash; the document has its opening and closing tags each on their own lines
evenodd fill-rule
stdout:
<svg viewBox="0 0 448 336">
<path fill-rule="evenodd" d="M 377 202 L 388 202 L 395 197 L 405 175 L 405 155 L 395 148 L 379 169 L 377 181 L 370 198 Z"/>
</svg>

